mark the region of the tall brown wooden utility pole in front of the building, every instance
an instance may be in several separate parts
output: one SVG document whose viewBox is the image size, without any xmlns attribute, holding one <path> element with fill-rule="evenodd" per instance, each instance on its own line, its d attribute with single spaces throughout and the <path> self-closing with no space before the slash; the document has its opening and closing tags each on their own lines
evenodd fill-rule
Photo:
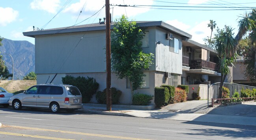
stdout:
<svg viewBox="0 0 256 140">
<path fill-rule="evenodd" d="M 111 47 L 110 47 L 110 6 L 106 0 L 106 64 L 107 64 L 107 111 L 111 111 Z"/>
</svg>

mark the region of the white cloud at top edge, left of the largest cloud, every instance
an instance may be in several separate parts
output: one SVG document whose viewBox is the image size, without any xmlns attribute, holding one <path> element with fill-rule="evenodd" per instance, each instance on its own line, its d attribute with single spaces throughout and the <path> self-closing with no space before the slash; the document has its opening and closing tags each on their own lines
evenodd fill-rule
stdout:
<svg viewBox="0 0 256 140">
<path fill-rule="evenodd" d="M 33 2 L 30 3 L 30 6 L 35 10 L 56 13 L 57 8 L 60 6 L 60 0 L 33 0 Z"/>
</svg>

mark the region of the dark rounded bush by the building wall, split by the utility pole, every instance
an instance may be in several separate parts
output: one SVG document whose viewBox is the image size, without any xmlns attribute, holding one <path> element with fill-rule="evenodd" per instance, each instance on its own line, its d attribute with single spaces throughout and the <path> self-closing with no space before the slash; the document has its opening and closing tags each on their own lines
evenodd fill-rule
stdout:
<svg viewBox="0 0 256 140">
<path fill-rule="evenodd" d="M 119 98 L 122 94 L 122 91 L 116 90 L 116 88 L 111 88 L 111 104 L 119 104 Z M 107 104 L 107 89 L 103 91 L 97 91 L 96 99 L 100 104 Z"/>
</svg>

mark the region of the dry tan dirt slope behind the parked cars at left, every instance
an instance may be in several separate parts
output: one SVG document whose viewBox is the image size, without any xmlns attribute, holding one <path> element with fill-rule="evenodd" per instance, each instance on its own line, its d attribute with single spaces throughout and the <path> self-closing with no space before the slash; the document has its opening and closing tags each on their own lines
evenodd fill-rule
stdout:
<svg viewBox="0 0 256 140">
<path fill-rule="evenodd" d="M 0 80 L 0 87 L 10 93 L 22 92 L 33 85 L 36 85 L 36 80 Z"/>
</svg>

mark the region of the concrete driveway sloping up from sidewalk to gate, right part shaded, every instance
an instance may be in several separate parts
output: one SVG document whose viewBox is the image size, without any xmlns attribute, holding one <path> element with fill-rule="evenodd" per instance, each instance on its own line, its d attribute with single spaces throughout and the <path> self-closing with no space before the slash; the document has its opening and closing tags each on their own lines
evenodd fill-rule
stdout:
<svg viewBox="0 0 256 140">
<path fill-rule="evenodd" d="M 207 108 L 207 100 L 187 101 L 164 106 L 159 111 L 256 117 L 256 102 Z"/>
</svg>

